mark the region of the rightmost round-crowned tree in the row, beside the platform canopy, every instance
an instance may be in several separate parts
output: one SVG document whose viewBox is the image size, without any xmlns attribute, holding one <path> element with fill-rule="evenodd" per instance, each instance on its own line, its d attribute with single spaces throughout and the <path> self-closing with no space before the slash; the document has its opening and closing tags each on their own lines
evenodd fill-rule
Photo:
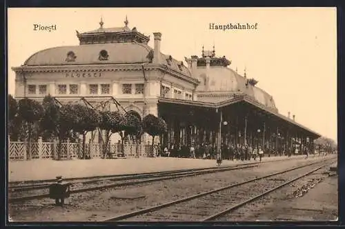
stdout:
<svg viewBox="0 0 345 229">
<path fill-rule="evenodd" d="M 155 115 L 146 115 L 143 119 L 143 130 L 144 132 L 147 132 L 148 135 L 152 136 L 152 148 L 153 150 L 153 144 L 155 142 L 155 136 L 164 134 L 166 132 L 166 122 L 161 119 L 155 117 Z"/>
</svg>

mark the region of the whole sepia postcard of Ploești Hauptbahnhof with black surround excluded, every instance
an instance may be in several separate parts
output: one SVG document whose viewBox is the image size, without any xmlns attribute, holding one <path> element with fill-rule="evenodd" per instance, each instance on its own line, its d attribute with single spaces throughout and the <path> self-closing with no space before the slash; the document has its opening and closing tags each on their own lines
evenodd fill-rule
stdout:
<svg viewBox="0 0 345 229">
<path fill-rule="evenodd" d="M 336 8 L 8 8 L 8 224 L 337 221 Z"/>
</svg>

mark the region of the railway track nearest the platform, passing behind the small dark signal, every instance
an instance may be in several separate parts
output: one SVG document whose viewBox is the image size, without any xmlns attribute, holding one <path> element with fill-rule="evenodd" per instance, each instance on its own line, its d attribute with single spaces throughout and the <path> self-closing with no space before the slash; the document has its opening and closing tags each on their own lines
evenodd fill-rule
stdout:
<svg viewBox="0 0 345 229">
<path fill-rule="evenodd" d="M 177 170 L 177 171 L 168 171 L 168 172 L 155 172 L 155 173 L 146 173 L 146 174 L 139 174 L 139 175 L 123 175 L 113 176 L 114 178 L 92 178 L 90 180 L 81 180 L 75 181 L 72 183 L 72 187 L 77 188 L 75 190 L 70 191 L 70 194 L 76 194 L 80 192 L 88 192 L 93 190 L 103 190 L 106 188 L 116 188 L 116 187 L 123 187 L 123 186 L 133 186 L 141 183 L 151 183 L 155 181 L 163 181 L 168 179 L 177 179 L 181 177 L 191 177 L 197 175 L 204 175 L 209 173 L 215 172 L 226 172 L 229 170 L 239 170 L 239 169 L 246 169 L 246 168 L 254 168 L 257 167 L 258 163 L 246 163 L 237 166 L 227 166 L 227 167 L 217 167 L 217 168 L 201 168 L 201 169 L 193 169 L 193 170 Z M 93 185 L 91 185 L 93 184 Z M 9 188 L 9 203 L 14 202 L 22 202 L 22 201 L 29 201 L 32 199 L 44 199 L 49 197 L 48 188 L 50 184 L 38 184 L 36 186 L 25 186 L 25 187 L 10 187 Z M 87 188 L 84 188 L 88 186 Z M 36 195 L 24 195 L 25 192 L 34 191 Z M 39 194 L 37 195 L 37 192 Z"/>
</svg>

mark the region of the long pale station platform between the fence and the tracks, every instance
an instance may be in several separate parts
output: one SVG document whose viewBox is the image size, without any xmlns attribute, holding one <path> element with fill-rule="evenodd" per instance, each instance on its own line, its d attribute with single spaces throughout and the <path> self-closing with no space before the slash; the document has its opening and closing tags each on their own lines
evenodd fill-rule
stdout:
<svg viewBox="0 0 345 229">
<path fill-rule="evenodd" d="M 302 159 L 304 155 L 292 157 L 263 157 L 262 161 Z M 313 156 L 312 156 L 313 157 Z M 317 156 L 316 156 L 317 157 Z M 258 161 L 258 160 L 257 160 Z M 250 161 L 223 160 L 221 166 L 236 166 Z M 64 178 L 95 177 L 106 175 L 125 175 L 143 172 L 163 172 L 193 168 L 214 168 L 215 159 L 184 159 L 175 157 L 132 158 L 132 159 L 73 159 L 55 161 L 51 159 L 35 159 L 30 161 L 9 161 L 8 181 L 40 181 Z"/>
</svg>

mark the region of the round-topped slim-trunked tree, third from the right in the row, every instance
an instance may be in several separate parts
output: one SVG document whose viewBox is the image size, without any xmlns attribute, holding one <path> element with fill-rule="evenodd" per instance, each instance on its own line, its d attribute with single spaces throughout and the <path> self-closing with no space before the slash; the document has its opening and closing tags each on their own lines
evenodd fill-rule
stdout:
<svg viewBox="0 0 345 229">
<path fill-rule="evenodd" d="M 102 111 L 101 112 L 101 122 L 99 128 L 106 130 L 106 141 L 103 147 L 103 158 L 106 158 L 108 153 L 108 144 L 110 137 L 113 133 L 119 132 L 123 129 L 124 116 L 120 112 L 116 111 Z"/>
</svg>

